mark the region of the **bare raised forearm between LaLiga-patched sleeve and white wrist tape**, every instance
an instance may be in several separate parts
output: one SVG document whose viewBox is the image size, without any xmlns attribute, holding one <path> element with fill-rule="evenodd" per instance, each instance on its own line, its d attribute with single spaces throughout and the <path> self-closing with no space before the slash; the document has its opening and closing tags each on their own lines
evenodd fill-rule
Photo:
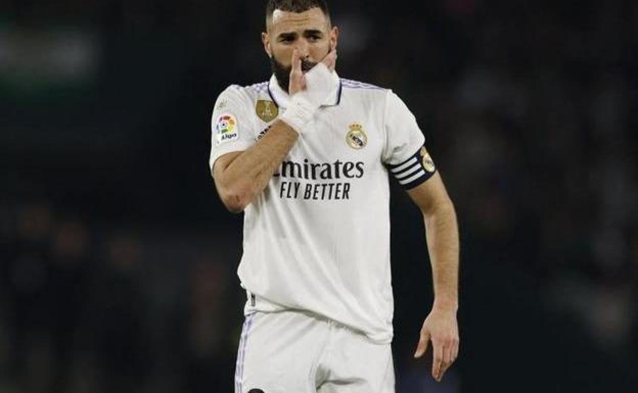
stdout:
<svg viewBox="0 0 638 393">
<path fill-rule="evenodd" d="M 235 158 L 224 171 L 226 189 L 246 206 L 265 189 L 299 134 L 285 122 L 275 122 L 258 143 Z"/>
</svg>

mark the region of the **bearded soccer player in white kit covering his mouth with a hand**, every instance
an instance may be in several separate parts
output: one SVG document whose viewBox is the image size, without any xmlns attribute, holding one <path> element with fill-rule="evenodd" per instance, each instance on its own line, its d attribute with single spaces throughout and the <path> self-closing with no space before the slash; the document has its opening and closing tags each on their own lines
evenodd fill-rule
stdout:
<svg viewBox="0 0 638 393">
<path fill-rule="evenodd" d="M 214 106 L 212 176 L 244 212 L 236 393 L 394 392 L 389 174 L 422 211 L 432 262 L 415 357 L 431 341 L 440 381 L 458 354 L 454 207 L 403 101 L 336 74 L 338 33 L 322 0 L 270 0 L 272 77 Z"/>
</svg>

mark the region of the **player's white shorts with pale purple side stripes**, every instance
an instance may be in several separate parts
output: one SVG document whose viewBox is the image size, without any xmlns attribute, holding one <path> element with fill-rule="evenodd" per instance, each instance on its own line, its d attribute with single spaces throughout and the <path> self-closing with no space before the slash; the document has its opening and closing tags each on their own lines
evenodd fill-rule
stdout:
<svg viewBox="0 0 638 393">
<path fill-rule="evenodd" d="M 235 393 L 394 393 L 390 344 L 303 311 L 246 316 Z"/>
</svg>

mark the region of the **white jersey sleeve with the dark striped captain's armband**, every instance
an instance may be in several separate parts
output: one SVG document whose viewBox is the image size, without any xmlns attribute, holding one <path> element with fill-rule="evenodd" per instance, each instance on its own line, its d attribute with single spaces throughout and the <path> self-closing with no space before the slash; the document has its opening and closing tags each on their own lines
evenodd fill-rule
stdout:
<svg viewBox="0 0 638 393">
<path fill-rule="evenodd" d="M 424 146 L 423 132 L 406 104 L 392 91 L 385 102 L 384 127 L 382 160 L 399 185 L 410 190 L 431 178 L 436 168 Z"/>
</svg>

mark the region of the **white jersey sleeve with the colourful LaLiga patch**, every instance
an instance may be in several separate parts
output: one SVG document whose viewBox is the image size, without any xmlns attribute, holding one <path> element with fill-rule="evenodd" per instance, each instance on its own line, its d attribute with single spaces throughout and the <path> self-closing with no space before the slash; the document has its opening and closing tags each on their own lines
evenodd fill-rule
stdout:
<svg viewBox="0 0 638 393">
<path fill-rule="evenodd" d="M 215 161 L 230 152 L 241 152 L 255 144 L 255 125 L 248 97 L 232 85 L 219 94 L 211 117 L 211 174 Z"/>
</svg>

